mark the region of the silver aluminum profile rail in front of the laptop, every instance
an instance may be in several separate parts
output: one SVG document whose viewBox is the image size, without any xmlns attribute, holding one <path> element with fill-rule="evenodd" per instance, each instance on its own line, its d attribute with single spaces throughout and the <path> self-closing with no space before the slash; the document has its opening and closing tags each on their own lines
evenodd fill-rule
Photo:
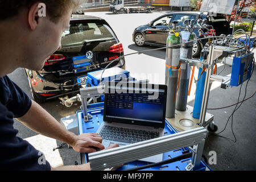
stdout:
<svg viewBox="0 0 256 182">
<path fill-rule="evenodd" d="M 192 157 L 192 163 L 196 169 L 200 167 L 206 138 L 207 130 L 204 127 L 200 127 L 127 146 L 94 152 L 88 154 L 90 168 L 94 171 L 99 171 L 178 148 L 197 145 L 196 152 Z"/>
</svg>

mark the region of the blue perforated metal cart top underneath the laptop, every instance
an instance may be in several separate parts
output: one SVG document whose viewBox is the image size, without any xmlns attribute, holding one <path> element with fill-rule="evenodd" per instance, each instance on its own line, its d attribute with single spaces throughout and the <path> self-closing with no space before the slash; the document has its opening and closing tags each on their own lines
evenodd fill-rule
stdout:
<svg viewBox="0 0 256 182">
<path fill-rule="evenodd" d="M 89 119 L 88 122 L 84 121 L 84 114 L 82 111 L 77 111 L 77 122 L 78 122 L 78 128 L 79 128 L 79 134 L 83 133 L 96 133 L 98 127 L 100 127 L 101 123 L 103 122 L 104 117 L 104 102 L 92 104 L 88 106 L 88 113 L 93 116 L 92 119 Z M 166 126 L 164 128 L 164 135 L 171 135 L 177 133 L 177 131 L 166 121 Z M 182 152 L 184 150 L 190 151 L 188 148 L 180 148 L 178 150 L 166 152 L 163 154 L 163 160 L 175 158 L 176 156 L 182 155 Z M 191 152 L 191 151 L 190 151 Z M 143 169 L 143 171 L 185 171 L 185 167 L 188 166 L 188 162 L 191 161 L 192 158 L 188 158 L 185 160 L 181 160 L 178 162 L 174 162 L 171 164 L 165 164 L 158 167 L 152 167 Z M 81 154 L 81 163 L 88 163 L 88 154 Z M 142 161 L 135 161 L 130 162 L 127 164 L 124 164 L 123 167 L 118 168 L 117 171 L 126 170 L 130 168 L 140 167 L 147 165 L 147 162 Z M 205 169 L 211 170 L 207 164 L 201 160 L 201 167 L 197 169 L 197 171 L 205 171 Z"/>
</svg>

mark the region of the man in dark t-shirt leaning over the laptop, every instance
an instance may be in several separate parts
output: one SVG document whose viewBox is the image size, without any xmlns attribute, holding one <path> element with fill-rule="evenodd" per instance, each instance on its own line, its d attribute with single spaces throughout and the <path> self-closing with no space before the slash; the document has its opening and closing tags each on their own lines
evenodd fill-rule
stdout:
<svg viewBox="0 0 256 182">
<path fill-rule="evenodd" d="M 40 164 L 39 151 L 16 137 L 13 118 L 39 134 L 55 138 L 77 152 L 104 149 L 97 134 L 77 136 L 65 130 L 46 110 L 6 75 L 16 68 L 40 70 L 61 48 L 76 0 L 0 0 L 0 168 L 14 170 L 89 170 L 89 164 L 51 168 Z M 42 6 L 44 5 L 44 6 Z M 45 15 L 42 8 L 46 8 Z M 117 147 L 114 144 L 110 148 Z"/>
</svg>

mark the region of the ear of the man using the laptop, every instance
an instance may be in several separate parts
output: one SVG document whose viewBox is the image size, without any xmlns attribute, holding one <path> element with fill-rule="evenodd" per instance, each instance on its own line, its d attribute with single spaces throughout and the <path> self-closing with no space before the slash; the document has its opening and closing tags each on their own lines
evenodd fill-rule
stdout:
<svg viewBox="0 0 256 182">
<path fill-rule="evenodd" d="M 39 2 L 34 3 L 28 10 L 28 25 L 30 26 L 31 30 L 35 30 L 35 28 L 38 26 L 38 11 L 40 8 L 38 7 Z"/>
</svg>

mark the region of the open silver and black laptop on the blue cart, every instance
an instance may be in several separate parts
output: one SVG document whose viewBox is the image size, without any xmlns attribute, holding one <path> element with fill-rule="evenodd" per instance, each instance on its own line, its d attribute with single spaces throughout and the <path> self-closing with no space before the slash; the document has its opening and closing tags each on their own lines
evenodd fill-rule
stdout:
<svg viewBox="0 0 256 182">
<path fill-rule="evenodd" d="M 106 82 L 104 122 L 97 133 L 104 147 L 119 146 L 163 137 L 167 86 L 134 82 Z M 157 163 L 163 154 L 141 159 Z"/>
</svg>

